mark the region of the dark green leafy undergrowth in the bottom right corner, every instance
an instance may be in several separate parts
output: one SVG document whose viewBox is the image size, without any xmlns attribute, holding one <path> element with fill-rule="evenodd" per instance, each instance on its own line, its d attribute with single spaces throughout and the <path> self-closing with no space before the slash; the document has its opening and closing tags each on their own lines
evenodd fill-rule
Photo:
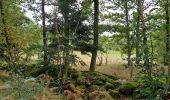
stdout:
<svg viewBox="0 0 170 100">
<path fill-rule="evenodd" d="M 166 80 L 164 77 L 153 77 L 150 81 L 147 76 L 138 77 L 138 83 L 141 83 L 141 86 L 138 87 L 140 94 L 135 95 L 136 98 L 150 98 L 155 99 L 157 96 L 164 98 Z"/>
</svg>

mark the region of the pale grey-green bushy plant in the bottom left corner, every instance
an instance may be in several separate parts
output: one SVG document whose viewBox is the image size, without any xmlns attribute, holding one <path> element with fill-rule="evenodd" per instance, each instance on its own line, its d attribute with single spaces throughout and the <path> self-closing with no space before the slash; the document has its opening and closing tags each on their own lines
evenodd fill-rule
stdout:
<svg viewBox="0 0 170 100">
<path fill-rule="evenodd" d="M 35 78 L 24 79 L 21 76 L 13 76 L 5 83 L 5 89 L 1 91 L 1 97 L 14 97 L 15 99 L 35 99 L 35 96 L 44 91 L 43 83 L 37 82 Z"/>
</svg>

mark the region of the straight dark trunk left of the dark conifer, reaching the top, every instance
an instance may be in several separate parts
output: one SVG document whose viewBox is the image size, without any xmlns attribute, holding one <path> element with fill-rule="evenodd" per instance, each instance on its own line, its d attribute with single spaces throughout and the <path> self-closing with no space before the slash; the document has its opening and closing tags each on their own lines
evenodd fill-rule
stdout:
<svg viewBox="0 0 170 100">
<path fill-rule="evenodd" d="M 48 66 L 47 61 L 47 35 L 46 35 L 46 28 L 45 28 L 45 1 L 42 0 L 42 27 L 43 27 L 43 59 L 44 59 L 44 67 Z"/>
</svg>

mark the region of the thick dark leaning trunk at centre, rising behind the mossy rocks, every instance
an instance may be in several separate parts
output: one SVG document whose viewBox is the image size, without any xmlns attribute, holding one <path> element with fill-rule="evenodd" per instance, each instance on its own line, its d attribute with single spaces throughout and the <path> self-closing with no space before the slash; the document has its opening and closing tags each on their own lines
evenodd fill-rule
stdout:
<svg viewBox="0 0 170 100">
<path fill-rule="evenodd" d="M 98 49 L 98 37 L 99 37 L 99 33 L 98 33 L 99 0 L 93 0 L 93 2 L 94 2 L 94 23 L 93 23 L 94 40 L 93 40 L 93 50 L 92 50 L 92 57 L 90 63 L 90 71 L 95 71 L 97 49 Z"/>
</svg>

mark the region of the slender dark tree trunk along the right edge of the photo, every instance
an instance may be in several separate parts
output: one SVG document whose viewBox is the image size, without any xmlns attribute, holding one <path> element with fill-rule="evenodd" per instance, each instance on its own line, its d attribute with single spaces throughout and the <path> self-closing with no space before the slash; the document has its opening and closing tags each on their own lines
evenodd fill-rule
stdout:
<svg viewBox="0 0 170 100">
<path fill-rule="evenodd" d="M 168 78 L 167 78 L 167 85 L 168 85 L 168 93 L 170 92 L 170 49 L 169 49 L 169 38 L 170 38 L 170 33 L 169 33 L 169 0 L 166 0 L 165 4 L 165 11 L 166 11 L 166 62 L 168 64 Z"/>
</svg>

